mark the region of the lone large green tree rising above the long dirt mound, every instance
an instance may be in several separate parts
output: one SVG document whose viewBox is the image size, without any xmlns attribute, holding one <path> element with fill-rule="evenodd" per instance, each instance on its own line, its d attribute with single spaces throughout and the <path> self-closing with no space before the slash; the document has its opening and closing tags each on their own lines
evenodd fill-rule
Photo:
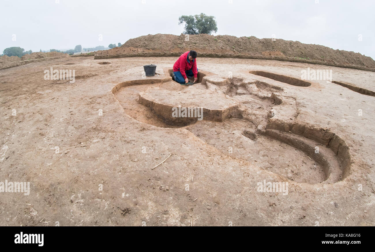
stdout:
<svg viewBox="0 0 375 252">
<path fill-rule="evenodd" d="M 211 34 L 217 32 L 215 17 L 207 16 L 204 13 L 194 16 L 180 16 L 178 24 L 185 24 L 184 34 Z"/>
</svg>

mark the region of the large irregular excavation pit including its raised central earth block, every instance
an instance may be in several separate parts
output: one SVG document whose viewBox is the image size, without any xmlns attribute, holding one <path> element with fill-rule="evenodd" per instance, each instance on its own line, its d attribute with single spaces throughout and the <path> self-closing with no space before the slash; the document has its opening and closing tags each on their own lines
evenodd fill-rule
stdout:
<svg viewBox="0 0 375 252">
<path fill-rule="evenodd" d="M 257 162 L 297 183 L 335 183 L 348 175 L 350 156 L 335 134 L 321 136 L 308 126 L 301 131 L 300 126 L 275 124 L 273 107 L 278 113 L 285 107 L 291 116 L 296 107 L 292 98 L 279 96 L 282 88 L 207 72 L 198 73 L 200 83 L 186 87 L 171 80 L 172 69 L 163 71 L 164 76 L 113 88 L 127 115 L 157 127 L 185 128 L 223 154 Z M 267 125 L 266 130 L 257 130 L 260 124 Z M 317 146 L 320 153 L 315 153 Z"/>
</svg>

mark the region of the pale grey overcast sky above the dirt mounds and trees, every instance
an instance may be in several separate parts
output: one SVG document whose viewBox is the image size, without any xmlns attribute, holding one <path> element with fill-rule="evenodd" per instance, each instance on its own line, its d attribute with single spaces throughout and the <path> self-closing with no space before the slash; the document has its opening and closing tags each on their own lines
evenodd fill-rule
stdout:
<svg viewBox="0 0 375 252">
<path fill-rule="evenodd" d="M 180 35 L 178 17 L 203 12 L 216 17 L 218 35 L 275 34 L 375 59 L 374 0 L 1 0 L 1 10 L 1 52 L 11 46 L 33 52 L 108 47 L 147 34 Z"/>
</svg>

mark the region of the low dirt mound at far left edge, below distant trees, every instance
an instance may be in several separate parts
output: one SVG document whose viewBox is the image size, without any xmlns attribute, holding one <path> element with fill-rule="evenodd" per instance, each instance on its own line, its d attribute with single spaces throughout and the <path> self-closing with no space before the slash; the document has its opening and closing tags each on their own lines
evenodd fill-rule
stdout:
<svg viewBox="0 0 375 252">
<path fill-rule="evenodd" d="M 21 66 L 31 62 L 53 60 L 57 58 L 69 57 L 68 54 L 62 52 L 33 52 L 32 54 L 25 54 L 22 58 L 17 56 L 8 57 L 3 55 L 0 57 L 0 70 L 9 67 Z"/>
</svg>

